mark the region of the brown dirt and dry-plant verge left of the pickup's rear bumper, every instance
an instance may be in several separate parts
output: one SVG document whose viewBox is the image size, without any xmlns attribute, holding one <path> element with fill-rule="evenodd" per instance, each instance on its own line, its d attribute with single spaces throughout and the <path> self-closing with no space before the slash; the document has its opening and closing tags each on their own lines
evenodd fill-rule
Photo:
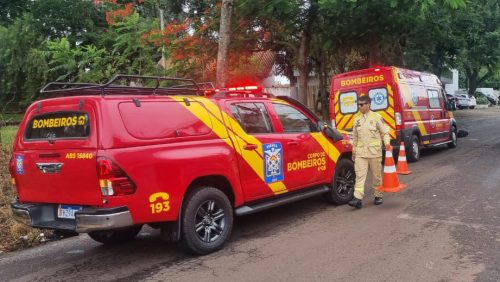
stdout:
<svg viewBox="0 0 500 282">
<path fill-rule="evenodd" d="M 0 148 L 0 253 L 38 245 L 51 237 L 41 231 L 16 222 L 10 211 L 15 192 L 10 184 L 10 152 Z"/>
</svg>

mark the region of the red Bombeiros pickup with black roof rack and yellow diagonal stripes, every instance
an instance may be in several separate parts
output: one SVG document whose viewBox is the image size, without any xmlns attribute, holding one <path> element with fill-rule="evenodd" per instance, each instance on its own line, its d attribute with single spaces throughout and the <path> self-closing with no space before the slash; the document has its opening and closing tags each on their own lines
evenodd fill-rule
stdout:
<svg viewBox="0 0 500 282">
<path fill-rule="evenodd" d="M 137 79 L 156 87 L 128 86 Z M 184 85 L 160 86 L 174 82 Z M 49 84 L 42 93 L 56 97 L 28 108 L 14 142 L 14 217 L 103 244 L 148 224 L 207 254 L 228 240 L 233 216 L 319 194 L 352 199 L 346 134 L 256 86 L 207 91 L 192 80 L 125 75 Z"/>
</svg>

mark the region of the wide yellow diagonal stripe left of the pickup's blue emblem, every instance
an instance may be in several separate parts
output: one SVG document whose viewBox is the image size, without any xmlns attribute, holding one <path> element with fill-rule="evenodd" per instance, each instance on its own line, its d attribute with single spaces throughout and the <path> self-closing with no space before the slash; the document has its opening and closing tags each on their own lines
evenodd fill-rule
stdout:
<svg viewBox="0 0 500 282">
<path fill-rule="evenodd" d="M 172 99 L 177 101 L 185 109 L 190 111 L 198 118 L 204 116 L 202 114 L 199 114 L 202 107 L 200 104 L 203 104 L 208 110 L 208 112 L 215 118 L 209 120 L 204 120 L 200 118 L 200 120 L 207 126 L 211 126 L 213 132 L 219 138 L 224 139 L 226 144 L 228 144 L 231 148 L 234 148 L 235 151 L 243 158 L 243 160 L 245 160 L 245 162 L 252 168 L 255 174 L 259 176 L 262 182 L 265 183 L 264 160 L 262 159 L 263 156 L 262 143 L 257 138 L 245 133 L 245 131 L 241 128 L 240 124 L 235 119 L 233 119 L 225 112 L 221 111 L 220 108 L 211 100 L 202 97 L 196 97 L 196 98 L 190 97 L 187 99 L 190 99 L 191 101 L 199 101 L 200 104 L 192 103 L 189 106 L 187 106 L 186 103 L 184 102 L 184 98 L 185 97 L 172 97 Z M 232 132 L 231 130 L 227 130 L 227 127 L 224 123 L 227 124 L 229 128 L 232 128 L 234 132 Z M 228 136 L 230 138 L 227 138 Z M 237 138 L 243 140 L 247 144 L 250 143 L 257 145 L 257 149 L 247 151 L 247 150 L 241 150 L 239 146 L 233 146 L 231 140 L 236 140 Z M 274 194 L 281 194 L 288 191 L 286 185 L 281 181 L 270 183 L 267 185 L 269 186 L 271 191 L 273 191 Z"/>
</svg>

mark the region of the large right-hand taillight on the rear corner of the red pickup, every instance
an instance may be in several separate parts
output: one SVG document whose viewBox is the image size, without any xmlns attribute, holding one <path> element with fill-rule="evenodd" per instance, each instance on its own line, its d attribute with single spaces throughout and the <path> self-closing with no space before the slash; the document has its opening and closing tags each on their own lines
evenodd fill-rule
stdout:
<svg viewBox="0 0 500 282">
<path fill-rule="evenodd" d="M 97 178 L 103 196 L 130 195 L 137 188 L 119 166 L 103 157 L 97 158 Z"/>
</svg>

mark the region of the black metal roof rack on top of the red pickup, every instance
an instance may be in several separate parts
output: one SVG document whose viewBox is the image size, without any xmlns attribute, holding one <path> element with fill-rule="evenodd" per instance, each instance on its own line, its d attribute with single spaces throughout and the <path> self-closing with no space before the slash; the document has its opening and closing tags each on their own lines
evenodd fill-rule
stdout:
<svg viewBox="0 0 500 282">
<path fill-rule="evenodd" d="M 115 84 L 121 80 L 125 80 L 130 85 Z M 142 86 L 141 83 L 137 83 L 139 80 L 153 81 L 155 84 L 152 87 Z M 161 86 L 162 82 L 184 82 L 185 84 Z M 51 82 L 40 90 L 40 94 L 44 98 L 82 94 L 104 96 L 132 93 L 134 95 L 186 95 L 188 93 L 203 95 L 205 90 L 213 88 L 214 86 L 210 82 L 196 83 L 187 78 L 117 74 L 104 84 Z"/>
</svg>

